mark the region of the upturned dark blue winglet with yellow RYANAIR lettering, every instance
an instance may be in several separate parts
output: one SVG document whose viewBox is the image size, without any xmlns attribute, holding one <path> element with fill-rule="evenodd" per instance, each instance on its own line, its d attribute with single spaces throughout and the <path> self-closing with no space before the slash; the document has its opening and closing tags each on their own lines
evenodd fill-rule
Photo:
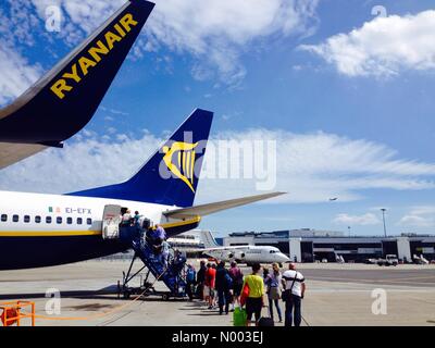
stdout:
<svg viewBox="0 0 435 348">
<path fill-rule="evenodd" d="M 80 130 L 92 117 L 154 4 L 128 0 L 21 97 L 0 110 L 0 169 Z"/>
</svg>

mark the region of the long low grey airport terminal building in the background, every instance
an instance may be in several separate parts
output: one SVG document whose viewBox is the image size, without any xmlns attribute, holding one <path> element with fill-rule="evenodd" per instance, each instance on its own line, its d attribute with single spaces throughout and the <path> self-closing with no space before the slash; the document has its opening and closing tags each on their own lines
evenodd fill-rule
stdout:
<svg viewBox="0 0 435 348">
<path fill-rule="evenodd" d="M 223 238 L 224 246 L 275 246 L 297 262 L 315 262 L 326 259 L 335 262 L 341 257 L 346 262 L 364 262 L 386 254 L 396 254 L 403 261 L 414 256 L 435 260 L 435 236 L 407 234 L 401 236 L 345 236 L 343 232 L 310 228 L 232 233 Z"/>
</svg>

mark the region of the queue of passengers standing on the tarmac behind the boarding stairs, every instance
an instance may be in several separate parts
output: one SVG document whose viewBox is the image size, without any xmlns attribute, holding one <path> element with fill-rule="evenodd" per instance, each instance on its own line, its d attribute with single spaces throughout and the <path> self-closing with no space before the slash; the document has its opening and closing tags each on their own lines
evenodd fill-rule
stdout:
<svg viewBox="0 0 435 348">
<path fill-rule="evenodd" d="M 229 268 L 224 261 L 200 261 L 198 272 L 188 264 L 186 281 L 190 300 L 199 298 L 209 310 L 219 309 L 220 315 L 233 312 L 236 325 L 273 326 L 275 319 L 278 323 L 284 319 L 284 326 L 301 324 L 301 302 L 307 287 L 295 263 L 289 263 L 284 272 L 276 263 L 271 270 L 257 263 L 245 275 L 234 261 Z M 268 308 L 266 316 L 264 308 Z"/>
</svg>

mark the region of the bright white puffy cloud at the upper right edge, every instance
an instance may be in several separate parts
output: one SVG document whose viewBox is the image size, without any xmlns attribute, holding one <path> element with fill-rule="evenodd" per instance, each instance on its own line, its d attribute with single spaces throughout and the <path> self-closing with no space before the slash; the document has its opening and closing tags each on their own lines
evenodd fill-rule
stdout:
<svg viewBox="0 0 435 348">
<path fill-rule="evenodd" d="M 319 54 L 348 76 L 393 76 L 435 67 L 435 11 L 378 16 L 320 45 L 299 48 Z"/>
</svg>

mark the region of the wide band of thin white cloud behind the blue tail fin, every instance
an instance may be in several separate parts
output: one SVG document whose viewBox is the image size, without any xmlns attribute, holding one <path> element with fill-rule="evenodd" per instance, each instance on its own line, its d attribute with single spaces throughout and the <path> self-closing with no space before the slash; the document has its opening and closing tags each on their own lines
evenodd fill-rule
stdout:
<svg viewBox="0 0 435 348">
<path fill-rule="evenodd" d="M 278 202 L 325 202 L 330 197 L 351 201 L 362 199 L 366 189 L 435 188 L 435 164 L 399 159 L 395 151 L 366 140 L 265 129 L 221 133 L 214 136 L 213 144 L 219 139 L 276 140 L 275 189 L 288 192 L 274 200 Z M 84 130 L 62 150 L 49 149 L 2 170 L 0 188 L 66 192 L 119 183 L 135 173 L 160 142 L 160 137 L 150 133 L 134 139 L 125 134 Z M 206 163 L 213 162 L 211 154 L 207 153 Z M 243 177 L 201 178 L 198 201 L 257 194 L 259 179 Z"/>
</svg>

